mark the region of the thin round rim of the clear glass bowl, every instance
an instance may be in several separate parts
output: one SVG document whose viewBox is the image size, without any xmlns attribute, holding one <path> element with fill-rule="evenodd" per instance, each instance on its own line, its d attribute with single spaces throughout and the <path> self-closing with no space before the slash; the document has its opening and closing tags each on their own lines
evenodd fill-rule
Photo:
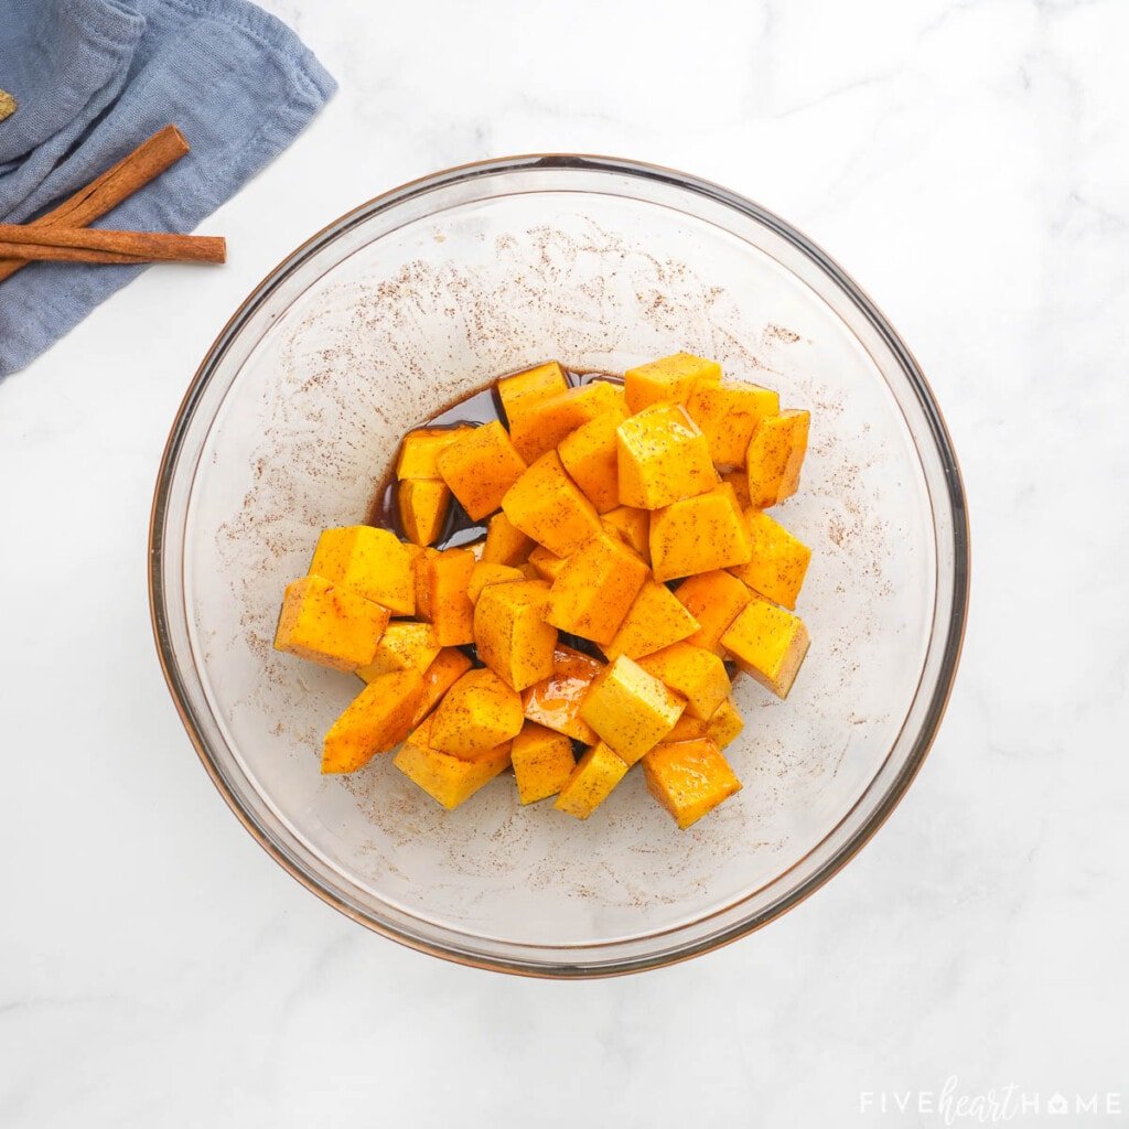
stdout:
<svg viewBox="0 0 1129 1129">
<path fill-rule="evenodd" d="M 295 268 L 316 254 L 324 245 L 351 226 L 368 219 L 378 212 L 386 211 L 414 196 L 422 195 L 438 187 L 447 187 L 464 181 L 479 177 L 493 176 L 506 173 L 520 173 L 526 170 L 544 169 L 576 169 L 581 172 L 612 173 L 623 176 L 638 177 L 645 181 L 657 181 L 676 189 L 689 191 L 703 196 L 715 203 L 727 205 L 728 208 L 753 219 L 774 234 L 793 244 L 802 254 L 811 260 L 822 270 L 844 294 L 856 304 L 858 309 L 866 316 L 867 321 L 877 331 L 886 347 L 896 357 L 911 390 L 925 413 L 929 425 L 930 434 L 940 456 L 944 470 L 946 496 L 949 507 L 949 516 L 953 525 L 953 602 L 952 613 L 945 632 L 944 650 L 942 653 L 937 682 L 934 686 L 931 698 L 928 702 L 925 719 L 920 732 L 917 735 L 905 763 L 902 765 L 895 779 L 891 782 L 885 794 L 876 804 L 874 811 L 869 813 L 855 834 L 848 839 L 817 870 L 807 879 L 800 883 L 795 890 L 782 896 L 779 901 L 768 907 L 765 910 L 752 914 L 743 921 L 735 924 L 719 934 L 706 937 L 701 940 L 688 943 L 683 946 L 650 956 L 633 956 L 622 961 L 612 961 L 599 965 L 585 964 L 549 964 L 549 963 L 526 963 L 519 960 L 507 960 L 504 957 L 485 957 L 478 954 L 469 954 L 461 949 L 446 945 L 426 940 L 413 934 L 402 931 L 387 922 L 375 921 L 371 918 L 356 911 L 350 904 L 342 900 L 333 890 L 323 886 L 310 874 L 307 874 L 297 866 L 289 856 L 275 844 L 270 834 L 262 828 L 254 815 L 239 802 L 238 797 L 226 786 L 218 765 L 212 760 L 200 726 L 193 715 L 189 703 L 185 686 L 177 669 L 175 656 L 173 655 L 167 610 L 165 606 L 165 535 L 164 519 L 167 513 L 168 498 L 172 488 L 173 469 L 176 464 L 177 454 L 184 439 L 187 421 L 191 419 L 196 401 L 200 399 L 203 388 L 211 379 L 219 360 L 227 351 L 229 344 L 242 329 L 244 322 L 251 313 L 264 301 L 274 287 L 282 281 Z M 286 255 L 263 279 L 255 286 L 246 298 L 236 307 L 227 323 L 217 334 L 215 341 L 203 356 L 196 371 L 189 384 L 189 387 L 177 408 L 173 425 L 166 439 L 160 465 L 157 474 L 157 482 L 154 490 L 152 505 L 149 519 L 148 536 L 148 590 L 149 590 L 149 613 L 154 641 L 157 648 L 157 656 L 160 663 L 165 682 L 172 695 L 173 703 L 181 717 L 185 732 L 195 747 L 205 771 L 211 778 L 216 789 L 220 793 L 236 817 L 244 828 L 252 834 L 259 844 L 266 851 L 275 863 L 279 864 L 291 877 L 300 882 L 307 890 L 316 894 L 323 902 L 333 907 L 345 917 L 359 925 L 378 933 L 391 940 L 438 956 L 456 964 L 471 968 L 484 969 L 495 972 L 507 972 L 518 975 L 527 975 L 540 979 L 602 979 L 605 977 L 624 975 L 631 972 L 641 972 L 649 969 L 662 968 L 669 964 L 681 963 L 693 956 L 712 952 L 724 945 L 755 933 L 770 921 L 781 917 L 788 910 L 798 905 L 809 898 L 816 890 L 823 886 L 830 878 L 838 874 L 861 849 L 865 847 L 878 829 L 886 822 L 891 813 L 901 802 L 909 786 L 913 782 L 925 762 L 933 743 L 936 739 L 944 718 L 945 710 L 952 695 L 956 671 L 960 665 L 961 651 L 964 644 L 965 628 L 969 612 L 970 593 L 970 527 L 968 501 L 964 483 L 957 463 L 956 453 L 945 418 L 934 396 L 925 374 L 921 370 L 913 353 L 909 350 L 900 335 L 894 331 L 885 315 L 881 312 L 873 299 L 863 290 L 855 279 L 847 273 L 830 255 L 820 246 L 805 236 L 802 231 L 781 219 L 774 212 L 755 203 L 754 201 L 738 193 L 732 192 L 711 181 L 703 180 L 689 173 L 668 168 L 662 165 L 654 165 L 647 161 L 638 161 L 620 157 L 607 157 L 592 154 L 523 154 L 511 157 L 491 158 L 488 160 L 470 161 L 463 165 L 455 165 L 450 168 L 417 177 L 405 183 L 388 189 L 385 192 L 373 196 L 370 200 L 359 204 L 350 211 L 343 213 L 321 230 L 316 231 L 294 251 Z"/>
</svg>

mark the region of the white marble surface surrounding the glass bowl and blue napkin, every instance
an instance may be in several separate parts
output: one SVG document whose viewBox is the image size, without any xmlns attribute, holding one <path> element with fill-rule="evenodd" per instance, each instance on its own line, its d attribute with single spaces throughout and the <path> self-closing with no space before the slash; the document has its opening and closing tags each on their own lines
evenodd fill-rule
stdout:
<svg viewBox="0 0 1129 1129">
<path fill-rule="evenodd" d="M 342 89 L 209 222 L 230 265 L 150 271 L 0 385 L 0 1126 L 943 1124 L 951 1076 L 1041 1093 L 1017 1123 L 1054 1091 L 1129 1117 L 1129 7 L 268 7 Z M 929 374 L 973 519 L 948 718 L 874 842 L 752 938 L 575 984 L 408 952 L 277 867 L 145 590 L 237 301 L 383 189 L 532 150 L 685 168 L 826 247 Z"/>
</svg>

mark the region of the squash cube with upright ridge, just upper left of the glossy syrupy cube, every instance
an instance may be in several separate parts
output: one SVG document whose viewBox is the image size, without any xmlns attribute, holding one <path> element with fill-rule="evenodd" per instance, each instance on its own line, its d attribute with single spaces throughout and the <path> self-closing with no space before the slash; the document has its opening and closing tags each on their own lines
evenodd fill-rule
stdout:
<svg viewBox="0 0 1129 1129">
<path fill-rule="evenodd" d="M 544 580 L 520 580 L 483 588 L 474 609 L 479 658 L 514 690 L 553 673 L 557 628 L 545 622 L 548 602 Z"/>
</svg>

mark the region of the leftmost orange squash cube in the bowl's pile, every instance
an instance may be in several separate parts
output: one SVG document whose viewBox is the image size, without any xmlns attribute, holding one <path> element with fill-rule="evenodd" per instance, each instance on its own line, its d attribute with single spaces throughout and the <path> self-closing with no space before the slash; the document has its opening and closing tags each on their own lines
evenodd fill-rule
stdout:
<svg viewBox="0 0 1129 1129">
<path fill-rule="evenodd" d="M 321 576 L 287 585 L 274 649 L 333 671 L 373 660 L 388 610 Z"/>
</svg>

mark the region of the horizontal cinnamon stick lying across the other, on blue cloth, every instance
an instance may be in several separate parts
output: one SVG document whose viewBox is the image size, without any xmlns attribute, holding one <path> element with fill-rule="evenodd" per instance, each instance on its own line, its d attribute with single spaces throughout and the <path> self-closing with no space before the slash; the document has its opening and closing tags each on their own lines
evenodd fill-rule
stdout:
<svg viewBox="0 0 1129 1129">
<path fill-rule="evenodd" d="M 0 257 L 76 263 L 222 263 L 219 236 L 0 224 Z"/>
</svg>

